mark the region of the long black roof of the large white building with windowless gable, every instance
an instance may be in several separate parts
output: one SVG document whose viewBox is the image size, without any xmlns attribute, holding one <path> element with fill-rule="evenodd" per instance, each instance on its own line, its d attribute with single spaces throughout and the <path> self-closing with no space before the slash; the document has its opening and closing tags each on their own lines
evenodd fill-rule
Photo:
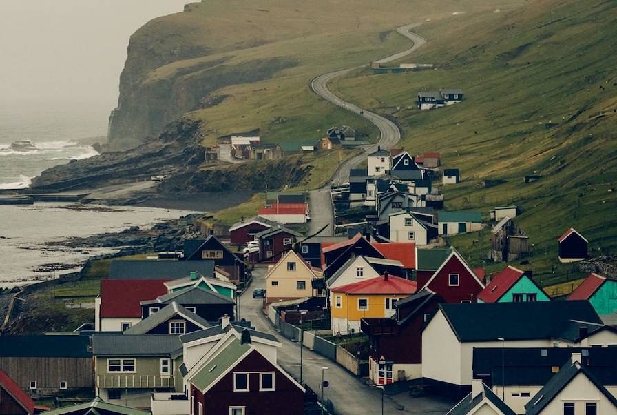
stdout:
<svg viewBox="0 0 617 415">
<path fill-rule="evenodd" d="M 577 341 L 578 327 L 601 325 L 589 301 L 439 304 L 459 341 L 561 338 Z"/>
</svg>

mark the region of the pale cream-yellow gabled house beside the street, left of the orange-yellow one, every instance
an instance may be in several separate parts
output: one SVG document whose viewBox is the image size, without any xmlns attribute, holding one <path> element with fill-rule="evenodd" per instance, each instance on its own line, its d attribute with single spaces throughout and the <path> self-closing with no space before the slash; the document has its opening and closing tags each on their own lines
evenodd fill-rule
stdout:
<svg viewBox="0 0 617 415">
<path fill-rule="evenodd" d="M 311 267 L 302 256 L 288 251 L 266 275 L 266 303 L 317 296 L 313 280 L 322 279 L 319 268 Z"/>
</svg>

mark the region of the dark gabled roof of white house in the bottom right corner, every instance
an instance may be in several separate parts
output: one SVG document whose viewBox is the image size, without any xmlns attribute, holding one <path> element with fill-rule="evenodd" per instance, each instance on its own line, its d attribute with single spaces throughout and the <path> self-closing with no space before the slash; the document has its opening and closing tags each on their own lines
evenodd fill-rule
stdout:
<svg viewBox="0 0 617 415">
<path fill-rule="evenodd" d="M 527 415 L 540 414 L 546 405 L 551 403 L 559 393 L 579 374 L 587 377 L 591 383 L 598 389 L 598 391 L 607 398 L 607 400 L 613 405 L 613 409 L 603 408 L 603 411 L 608 413 L 617 412 L 617 398 L 615 398 L 607 389 L 598 381 L 585 366 L 577 361 L 569 361 L 561 367 L 551 379 L 544 385 L 542 389 L 534 395 L 533 398 L 525 405 Z"/>
</svg>

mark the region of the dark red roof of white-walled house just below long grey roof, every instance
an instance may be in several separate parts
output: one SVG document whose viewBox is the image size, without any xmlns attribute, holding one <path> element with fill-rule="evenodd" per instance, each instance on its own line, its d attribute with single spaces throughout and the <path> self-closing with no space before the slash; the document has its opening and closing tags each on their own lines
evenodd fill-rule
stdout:
<svg viewBox="0 0 617 415">
<path fill-rule="evenodd" d="M 141 317 L 140 301 L 167 294 L 170 279 L 101 280 L 101 317 Z"/>
</svg>

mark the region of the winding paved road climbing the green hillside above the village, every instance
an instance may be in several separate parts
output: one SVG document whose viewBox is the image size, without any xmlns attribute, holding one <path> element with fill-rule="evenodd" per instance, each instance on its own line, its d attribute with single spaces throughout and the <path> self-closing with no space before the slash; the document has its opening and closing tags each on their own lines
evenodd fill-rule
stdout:
<svg viewBox="0 0 617 415">
<path fill-rule="evenodd" d="M 421 23 L 410 23 L 397 29 L 397 32 L 399 34 L 407 37 L 413 42 L 411 48 L 390 55 L 388 57 L 378 59 L 375 62 L 387 63 L 390 61 L 401 59 L 402 57 L 406 57 L 408 54 L 415 52 L 417 48 L 426 43 L 426 39 L 419 36 L 418 34 L 411 32 L 413 28 L 419 25 L 421 25 Z M 333 174 L 332 176 L 332 183 L 334 184 L 345 183 L 349 175 L 349 170 L 353 168 L 353 166 L 361 163 L 366 158 L 367 153 L 377 150 L 377 145 L 381 146 L 381 148 L 389 149 L 392 148 L 401 139 L 401 130 L 399 130 L 395 123 L 384 117 L 381 117 L 380 115 L 375 114 L 375 112 L 364 110 L 353 103 L 345 101 L 344 99 L 340 99 L 335 94 L 333 94 L 331 90 L 328 89 L 328 83 L 336 77 L 340 77 L 357 68 L 363 68 L 364 66 L 366 65 L 356 66 L 355 68 L 337 70 L 335 72 L 328 72 L 327 74 L 320 75 L 319 77 L 316 77 L 315 79 L 313 79 L 313 81 L 311 81 L 311 89 L 313 90 L 313 92 L 315 92 L 315 94 L 319 95 L 323 99 L 326 99 L 326 101 L 330 101 L 331 103 L 337 105 L 340 108 L 344 108 L 355 114 L 359 114 L 360 116 L 368 119 L 368 121 L 370 121 L 371 123 L 375 124 L 377 128 L 379 128 L 379 141 L 377 142 L 377 144 L 367 145 L 364 148 L 364 152 L 344 161 L 340 166 L 340 173 L 335 172 L 335 174 Z M 326 230 L 321 232 L 320 235 L 333 235 L 334 214 L 331 209 L 329 186 L 309 192 L 309 203 L 311 207 L 311 223 L 309 223 L 310 234 L 317 232 L 324 225 L 329 223 L 330 226 L 326 228 Z"/>
</svg>

